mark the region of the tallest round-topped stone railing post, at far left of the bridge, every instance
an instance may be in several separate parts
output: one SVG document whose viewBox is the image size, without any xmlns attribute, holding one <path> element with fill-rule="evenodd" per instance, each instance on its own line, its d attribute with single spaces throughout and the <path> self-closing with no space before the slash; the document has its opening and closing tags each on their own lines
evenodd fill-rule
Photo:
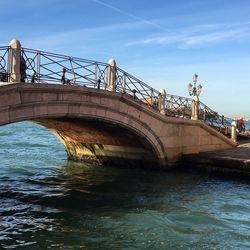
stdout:
<svg viewBox="0 0 250 250">
<path fill-rule="evenodd" d="M 9 56 L 9 82 L 20 82 L 21 81 L 21 43 L 13 39 L 10 42 L 10 56 Z"/>
</svg>

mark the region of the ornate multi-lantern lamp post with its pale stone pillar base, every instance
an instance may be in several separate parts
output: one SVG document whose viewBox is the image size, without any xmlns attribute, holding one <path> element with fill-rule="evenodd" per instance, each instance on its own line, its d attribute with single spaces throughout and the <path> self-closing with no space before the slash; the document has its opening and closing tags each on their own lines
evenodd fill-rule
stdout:
<svg viewBox="0 0 250 250">
<path fill-rule="evenodd" d="M 188 84 L 189 95 L 192 96 L 192 106 L 191 106 L 191 120 L 198 120 L 199 118 L 199 95 L 202 91 L 202 86 L 197 85 L 198 75 L 193 75 L 193 84 Z"/>
</svg>

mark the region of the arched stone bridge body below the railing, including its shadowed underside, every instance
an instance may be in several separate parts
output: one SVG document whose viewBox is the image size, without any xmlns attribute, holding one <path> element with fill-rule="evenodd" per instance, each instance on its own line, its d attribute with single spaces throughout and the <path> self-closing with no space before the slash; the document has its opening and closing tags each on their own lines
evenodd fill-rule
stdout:
<svg viewBox="0 0 250 250">
<path fill-rule="evenodd" d="M 70 159 L 167 167 L 183 154 L 236 144 L 201 121 L 160 114 L 126 93 L 84 86 L 0 86 L 0 125 L 33 121 L 55 134 Z"/>
</svg>

